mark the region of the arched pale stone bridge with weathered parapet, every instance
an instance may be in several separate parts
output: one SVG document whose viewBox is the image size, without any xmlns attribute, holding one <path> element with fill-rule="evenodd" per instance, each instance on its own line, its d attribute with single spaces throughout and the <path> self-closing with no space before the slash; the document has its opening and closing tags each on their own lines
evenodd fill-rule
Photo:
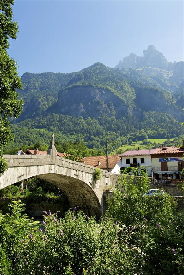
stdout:
<svg viewBox="0 0 184 275">
<path fill-rule="evenodd" d="M 8 169 L 0 177 L 0 189 L 36 176 L 59 187 L 70 207 L 79 206 L 87 215 L 103 214 L 103 189 L 115 186 L 117 174 L 101 170 L 94 182 L 94 167 L 55 155 L 4 155 Z"/>
</svg>

